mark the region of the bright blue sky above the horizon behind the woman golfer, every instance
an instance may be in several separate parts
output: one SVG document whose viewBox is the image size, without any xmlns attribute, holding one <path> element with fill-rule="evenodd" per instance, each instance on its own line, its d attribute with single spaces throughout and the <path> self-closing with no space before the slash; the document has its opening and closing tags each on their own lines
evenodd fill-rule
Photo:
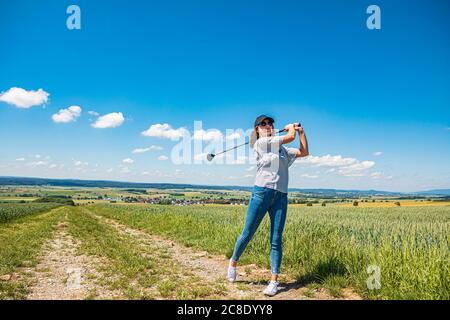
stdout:
<svg viewBox="0 0 450 320">
<path fill-rule="evenodd" d="M 66 27 L 71 4 L 81 30 Z M 381 30 L 366 27 L 371 4 Z M 167 130 L 142 132 L 167 123 L 193 134 L 202 121 L 225 134 L 267 113 L 280 126 L 300 121 L 308 136 L 311 157 L 292 167 L 290 187 L 448 188 L 448 9 L 445 0 L 2 1 L 0 175 L 251 185 L 251 159 L 176 165 Z M 20 108 L 5 102 L 11 88 L 49 96 Z M 81 110 L 73 121 L 54 120 L 71 106 Z M 116 127 L 93 126 L 111 113 Z"/>
</svg>

